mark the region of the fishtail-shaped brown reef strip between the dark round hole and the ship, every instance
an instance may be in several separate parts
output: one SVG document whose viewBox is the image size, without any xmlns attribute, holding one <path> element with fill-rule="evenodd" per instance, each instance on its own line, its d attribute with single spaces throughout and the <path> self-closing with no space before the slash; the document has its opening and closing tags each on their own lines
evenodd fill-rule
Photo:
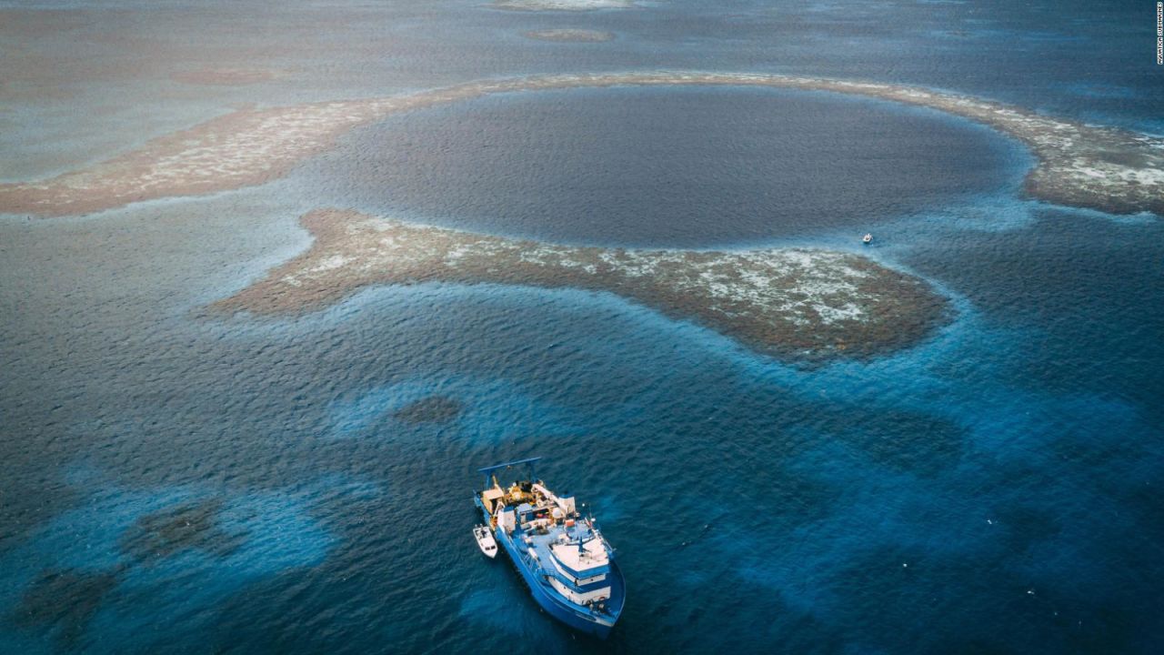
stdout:
<svg viewBox="0 0 1164 655">
<path fill-rule="evenodd" d="M 371 284 L 450 282 L 609 291 L 766 354 L 811 361 L 911 345 L 949 317 L 923 280 L 851 253 L 549 245 L 318 210 L 312 247 L 211 314 L 294 315 Z"/>
</svg>

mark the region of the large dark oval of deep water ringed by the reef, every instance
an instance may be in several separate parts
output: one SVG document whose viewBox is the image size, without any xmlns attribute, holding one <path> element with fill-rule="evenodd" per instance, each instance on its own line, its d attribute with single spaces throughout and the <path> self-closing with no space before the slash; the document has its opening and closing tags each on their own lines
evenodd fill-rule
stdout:
<svg viewBox="0 0 1164 655">
<path fill-rule="evenodd" d="M 935 111 L 833 93 L 585 89 L 395 117 L 300 183 L 325 204 L 491 233 L 700 247 L 941 207 L 1005 184 L 1015 150 Z"/>
</svg>

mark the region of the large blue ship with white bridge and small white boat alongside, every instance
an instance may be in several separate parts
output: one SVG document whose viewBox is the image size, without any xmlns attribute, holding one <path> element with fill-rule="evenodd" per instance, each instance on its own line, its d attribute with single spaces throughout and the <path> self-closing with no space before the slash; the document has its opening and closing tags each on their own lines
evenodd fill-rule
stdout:
<svg viewBox="0 0 1164 655">
<path fill-rule="evenodd" d="M 615 549 L 592 517 L 579 514 L 573 496 L 558 496 L 533 477 L 539 459 L 481 469 L 484 488 L 473 500 L 538 605 L 572 628 L 605 639 L 625 600 Z M 495 472 L 518 465 L 528 466 L 526 478 L 502 486 Z"/>
</svg>

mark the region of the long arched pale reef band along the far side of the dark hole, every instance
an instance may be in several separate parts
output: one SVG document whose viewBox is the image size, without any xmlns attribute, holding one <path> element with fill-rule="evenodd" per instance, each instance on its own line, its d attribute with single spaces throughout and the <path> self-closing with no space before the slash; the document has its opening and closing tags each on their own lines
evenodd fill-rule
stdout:
<svg viewBox="0 0 1164 655">
<path fill-rule="evenodd" d="M 389 98 L 241 110 L 161 136 L 91 168 L 0 184 L 0 212 L 66 216 L 136 200 L 212 193 L 262 184 L 328 148 L 345 132 L 386 115 L 489 93 L 618 85 L 726 85 L 803 89 L 921 105 L 988 125 L 1022 141 L 1038 163 L 1032 197 L 1113 213 L 1164 214 L 1164 139 L 1043 117 L 925 89 L 725 72 L 555 75 L 470 82 Z"/>
</svg>

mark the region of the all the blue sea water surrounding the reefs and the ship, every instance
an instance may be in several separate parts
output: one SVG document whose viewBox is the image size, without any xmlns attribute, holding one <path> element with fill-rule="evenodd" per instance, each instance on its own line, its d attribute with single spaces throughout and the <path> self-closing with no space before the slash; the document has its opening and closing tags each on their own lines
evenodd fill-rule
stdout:
<svg viewBox="0 0 1164 655">
<path fill-rule="evenodd" d="M 0 52 L 0 177 L 247 103 L 650 68 L 901 82 L 1161 132 L 1150 8 L 22 3 L 0 23 L 19 45 Z M 616 38 L 520 36 L 559 27 Z M 169 78 L 215 65 L 279 73 Z M 392 117 L 257 188 L 0 217 L 0 653 L 1157 653 L 1164 223 L 1025 198 L 1031 163 L 882 101 L 555 91 Z M 852 249 L 956 316 L 815 367 L 569 289 L 199 316 L 306 248 L 297 219 L 319 206 Z M 618 548 L 606 642 L 471 541 L 476 469 L 537 455 Z"/>
</svg>

